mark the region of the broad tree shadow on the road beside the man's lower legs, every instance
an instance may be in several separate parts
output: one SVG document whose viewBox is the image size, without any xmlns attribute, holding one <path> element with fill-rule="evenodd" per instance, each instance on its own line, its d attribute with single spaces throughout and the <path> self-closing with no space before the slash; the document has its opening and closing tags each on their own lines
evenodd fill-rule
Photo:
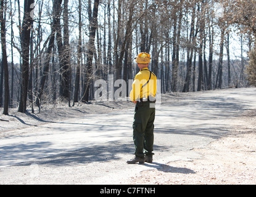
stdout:
<svg viewBox="0 0 256 197">
<path fill-rule="evenodd" d="M 155 149 L 157 150 L 166 150 L 166 147 L 160 147 L 155 145 Z M 0 148 L 1 150 L 1 148 Z M 51 150 L 49 152 L 52 152 Z M 56 150 L 57 151 L 57 150 Z M 59 151 L 59 150 L 58 150 Z M 15 164 L 15 166 L 29 166 L 32 163 L 36 163 L 38 165 L 49 165 L 49 166 L 75 166 L 79 164 L 88 164 L 94 162 L 111 162 L 120 160 L 123 162 L 123 158 L 121 155 L 130 154 L 133 156 L 134 145 L 133 143 L 123 143 L 123 142 L 109 142 L 102 143 L 102 145 L 92 145 L 86 148 L 81 148 L 78 150 L 68 151 L 64 153 L 59 153 L 53 156 L 46 156 L 43 158 L 39 158 L 32 161 L 27 161 L 23 163 Z M 33 155 L 27 155 L 28 157 L 34 158 L 36 154 L 39 154 L 39 148 L 36 153 Z"/>
</svg>

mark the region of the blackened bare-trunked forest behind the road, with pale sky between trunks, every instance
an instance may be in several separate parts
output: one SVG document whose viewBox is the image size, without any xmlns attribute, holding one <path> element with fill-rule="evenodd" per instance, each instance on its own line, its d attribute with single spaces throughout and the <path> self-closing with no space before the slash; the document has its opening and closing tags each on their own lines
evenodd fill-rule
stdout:
<svg viewBox="0 0 256 197">
<path fill-rule="evenodd" d="M 255 4 L 1 0 L 0 108 L 89 104 L 96 80 L 134 78 L 140 52 L 161 93 L 255 85 Z"/>
</svg>

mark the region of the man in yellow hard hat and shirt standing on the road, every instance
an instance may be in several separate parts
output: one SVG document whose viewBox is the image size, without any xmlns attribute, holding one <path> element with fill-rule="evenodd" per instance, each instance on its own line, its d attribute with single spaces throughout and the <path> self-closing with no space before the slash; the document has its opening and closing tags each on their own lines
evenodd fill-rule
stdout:
<svg viewBox="0 0 256 197">
<path fill-rule="evenodd" d="M 155 120 L 155 94 L 157 92 L 157 77 L 149 71 L 151 56 L 141 53 L 136 57 L 139 73 L 136 74 L 130 99 L 136 103 L 133 120 L 133 142 L 135 157 L 128 164 L 152 163 L 154 153 L 154 120 Z"/>
</svg>

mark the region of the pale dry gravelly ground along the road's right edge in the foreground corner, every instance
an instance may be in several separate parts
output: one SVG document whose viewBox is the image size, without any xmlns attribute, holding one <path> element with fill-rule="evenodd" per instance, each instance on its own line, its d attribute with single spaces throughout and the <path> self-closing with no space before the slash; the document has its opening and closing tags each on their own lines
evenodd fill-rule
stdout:
<svg viewBox="0 0 256 197">
<path fill-rule="evenodd" d="M 200 159 L 175 161 L 161 171 L 142 171 L 131 184 L 256 184 L 256 111 L 236 119 L 229 134 L 205 148 L 195 148 Z"/>
</svg>

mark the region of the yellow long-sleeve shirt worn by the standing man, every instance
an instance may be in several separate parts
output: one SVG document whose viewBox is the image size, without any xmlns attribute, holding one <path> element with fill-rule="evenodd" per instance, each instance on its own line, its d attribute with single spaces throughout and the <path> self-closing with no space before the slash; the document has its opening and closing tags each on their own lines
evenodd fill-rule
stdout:
<svg viewBox="0 0 256 197">
<path fill-rule="evenodd" d="M 150 78 L 150 79 L 149 79 Z M 147 82 L 148 81 L 148 82 Z M 130 99 L 132 102 L 140 100 L 140 98 L 155 97 L 157 92 L 157 77 L 148 68 L 142 68 L 132 84 Z"/>
</svg>

